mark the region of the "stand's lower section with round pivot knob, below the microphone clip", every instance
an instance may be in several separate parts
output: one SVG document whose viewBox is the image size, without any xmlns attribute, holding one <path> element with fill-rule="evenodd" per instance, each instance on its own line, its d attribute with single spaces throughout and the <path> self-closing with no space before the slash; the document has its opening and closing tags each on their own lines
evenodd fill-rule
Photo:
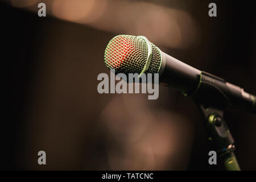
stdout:
<svg viewBox="0 0 256 182">
<path fill-rule="evenodd" d="M 240 171 L 234 155 L 234 139 L 223 119 L 224 111 L 213 107 L 205 108 L 202 104 L 197 105 L 204 116 L 205 127 L 210 134 L 209 140 L 213 140 L 216 145 L 217 155 L 223 160 L 226 170 Z"/>
</svg>

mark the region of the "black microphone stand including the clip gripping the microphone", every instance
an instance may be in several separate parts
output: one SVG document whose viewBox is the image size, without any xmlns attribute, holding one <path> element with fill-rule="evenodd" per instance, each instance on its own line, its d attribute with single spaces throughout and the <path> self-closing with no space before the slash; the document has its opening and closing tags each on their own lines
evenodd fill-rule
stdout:
<svg viewBox="0 0 256 182">
<path fill-rule="evenodd" d="M 203 114 L 205 128 L 210 136 L 209 140 L 212 140 L 215 144 L 217 155 L 223 160 L 226 170 L 240 171 L 241 169 L 234 155 L 234 139 L 223 118 L 224 108 L 229 99 L 218 88 L 217 80 L 220 79 L 209 75 L 209 73 L 201 72 L 199 85 L 195 92 L 189 95 Z"/>
</svg>

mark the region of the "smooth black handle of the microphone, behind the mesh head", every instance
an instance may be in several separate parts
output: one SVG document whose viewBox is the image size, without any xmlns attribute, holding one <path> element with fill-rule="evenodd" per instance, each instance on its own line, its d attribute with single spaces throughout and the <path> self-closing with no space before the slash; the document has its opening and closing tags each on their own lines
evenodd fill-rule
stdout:
<svg viewBox="0 0 256 182">
<path fill-rule="evenodd" d="M 238 107 L 256 114 L 255 96 L 224 79 L 200 71 L 161 51 L 160 85 L 171 86 L 205 107 Z"/>
</svg>

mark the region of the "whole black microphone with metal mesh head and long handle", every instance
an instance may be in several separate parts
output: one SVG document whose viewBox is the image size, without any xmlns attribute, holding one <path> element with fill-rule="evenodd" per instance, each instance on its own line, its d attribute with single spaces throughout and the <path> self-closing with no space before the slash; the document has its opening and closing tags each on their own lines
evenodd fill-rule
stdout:
<svg viewBox="0 0 256 182">
<path fill-rule="evenodd" d="M 167 55 L 144 36 L 115 36 L 105 49 L 104 60 L 115 75 L 158 73 L 160 85 L 181 90 L 205 107 L 233 106 L 256 113 L 253 94 Z"/>
</svg>

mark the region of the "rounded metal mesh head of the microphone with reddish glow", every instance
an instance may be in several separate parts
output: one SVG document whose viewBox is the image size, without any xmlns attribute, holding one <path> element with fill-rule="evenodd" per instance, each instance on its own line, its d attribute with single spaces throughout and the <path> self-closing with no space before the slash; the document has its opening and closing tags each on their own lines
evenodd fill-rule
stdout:
<svg viewBox="0 0 256 182">
<path fill-rule="evenodd" d="M 161 63 L 159 48 L 151 43 L 152 59 L 145 73 L 157 73 Z M 105 49 L 104 60 L 109 69 L 118 73 L 141 73 L 147 61 L 148 48 L 144 39 L 133 35 L 117 35 Z"/>
</svg>

